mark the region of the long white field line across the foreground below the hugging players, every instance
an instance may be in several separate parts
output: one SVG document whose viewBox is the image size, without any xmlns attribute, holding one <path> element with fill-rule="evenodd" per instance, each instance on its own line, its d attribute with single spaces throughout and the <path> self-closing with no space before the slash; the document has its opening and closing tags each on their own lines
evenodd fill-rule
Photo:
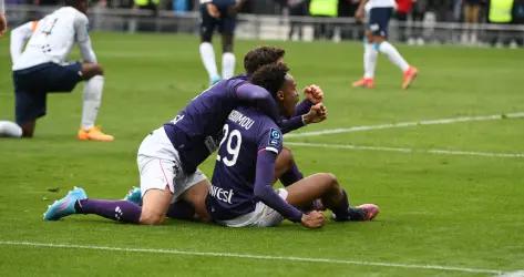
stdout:
<svg viewBox="0 0 524 277">
<path fill-rule="evenodd" d="M 10 246 L 20 246 L 20 247 L 40 247 L 40 248 L 88 249 L 88 250 L 102 250 L 102 252 L 154 253 L 154 254 L 169 254 L 169 255 L 181 255 L 181 256 L 228 257 L 228 258 L 243 258 L 243 259 L 280 260 L 280 261 L 291 261 L 291 263 L 298 261 L 298 263 L 339 264 L 339 265 L 357 265 L 357 266 L 374 266 L 374 267 L 397 267 L 397 268 L 407 268 L 407 269 L 428 269 L 428 270 L 460 271 L 460 273 L 471 273 L 471 274 L 502 275 L 506 273 L 503 270 L 495 270 L 495 269 L 439 266 L 439 265 L 414 265 L 414 264 L 379 263 L 379 261 L 330 259 L 330 258 L 266 256 L 266 255 L 255 255 L 255 254 L 236 254 L 236 253 L 217 253 L 217 252 L 191 252 L 191 250 L 177 250 L 177 249 L 123 248 L 123 247 L 96 246 L 96 245 L 45 244 L 45 243 L 10 242 L 10 240 L 0 240 L 0 245 L 10 245 Z"/>
</svg>

